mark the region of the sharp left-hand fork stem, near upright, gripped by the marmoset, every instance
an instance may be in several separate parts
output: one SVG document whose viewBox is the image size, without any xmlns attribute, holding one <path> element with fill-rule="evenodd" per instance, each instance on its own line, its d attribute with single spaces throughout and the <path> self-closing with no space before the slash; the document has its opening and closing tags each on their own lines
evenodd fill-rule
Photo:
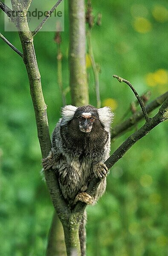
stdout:
<svg viewBox="0 0 168 256">
<path fill-rule="evenodd" d="M 41 146 L 42 157 L 48 156 L 51 150 L 51 140 L 49 136 L 49 126 L 46 113 L 46 103 L 43 98 L 41 88 L 41 76 L 38 69 L 38 63 L 35 55 L 32 33 L 29 31 L 27 20 L 20 22 L 19 37 L 23 49 L 23 61 L 29 77 L 30 93 L 35 111 L 35 119 L 38 130 L 38 139 Z M 45 170 L 47 187 L 52 199 L 52 203 L 57 209 L 61 220 L 65 221 L 69 209 L 64 198 L 61 195 L 58 180 L 55 173 L 51 170 Z"/>
</svg>

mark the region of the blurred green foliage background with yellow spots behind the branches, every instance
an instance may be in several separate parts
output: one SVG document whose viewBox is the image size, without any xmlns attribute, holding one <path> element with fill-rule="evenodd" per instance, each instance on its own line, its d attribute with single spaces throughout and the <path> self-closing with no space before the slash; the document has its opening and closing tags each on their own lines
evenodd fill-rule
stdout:
<svg viewBox="0 0 168 256">
<path fill-rule="evenodd" d="M 150 90 L 150 101 L 168 88 L 167 7 L 166 0 L 93 1 L 94 15 L 102 14 L 102 25 L 95 25 L 92 31 L 93 51 L 101 67 L 102 105 L 113 107 L 113 125 L 123 119 L 130 102 L 135 100 L 132 91 L 113 79 L 113 74 L 131 81 L 139 94 Z M 17 33 L 3 31 L 3 19 L 0 11 L 0 32 L 21 50 Z M 69 80 L 68 26 L 65 1 L 65 29 L 61 33 L 64 88 Z M 39 32 L 34 40 L 50 132 L 60 118 L 62 106 L 53 38 L 54 32 Z M 89 56 L 87 70 L 90 104 L 96 105 Z M 71 103 L 70 93 L 67 103 Z M 117 138 L 111 151 L 131 132 Z M 165 122 L 136 143 L 113 167 L 106 193 L 96 206 L 87 207 L 88 256 L 167 255 L 167 148 Z M 26 69 L 20 56 L 1 40 L 0 255 L 45 255 L 53 207 L 40 170 L 41 151 Z"/>
</svg>

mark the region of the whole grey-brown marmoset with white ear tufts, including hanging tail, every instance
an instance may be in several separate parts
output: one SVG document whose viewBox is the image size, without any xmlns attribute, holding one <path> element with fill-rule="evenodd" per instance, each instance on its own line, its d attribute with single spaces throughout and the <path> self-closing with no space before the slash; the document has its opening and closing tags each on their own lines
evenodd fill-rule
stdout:
<svg viewBox="0 0 168 256">
<path fill-rule="evenodd" d="M 52 133 L 52 149 L 43 159 L 43 168 L 55 171 L 61 192 L 72 208 L 77 201 L 95 203 L 106 189 L 108 169 L 104 162 L 110 153 L 112 120 L 113 113 L 108 107 L 97 109 L 91 105 L 78 108 L 66 105 L 62 108 L 62 118 Z M 85 191 L 93 175 L 101 182 L 91 197 Z M 79 229 L 82 255 L 84 218 L 82 230 Z"/>
</svg>

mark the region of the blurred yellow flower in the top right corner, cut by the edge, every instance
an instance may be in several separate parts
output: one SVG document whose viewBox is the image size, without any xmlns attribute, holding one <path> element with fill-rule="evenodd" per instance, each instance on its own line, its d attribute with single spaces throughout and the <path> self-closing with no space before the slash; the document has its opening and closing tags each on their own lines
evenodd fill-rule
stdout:
<svg viewBox="0 0 168 256">
<path fill-rule="evenodd" d="M 152 15 L 158 22 L 165 22 L 168 20 L 168 10 L 164 6 L 154 6 Z"/>
</svg>

